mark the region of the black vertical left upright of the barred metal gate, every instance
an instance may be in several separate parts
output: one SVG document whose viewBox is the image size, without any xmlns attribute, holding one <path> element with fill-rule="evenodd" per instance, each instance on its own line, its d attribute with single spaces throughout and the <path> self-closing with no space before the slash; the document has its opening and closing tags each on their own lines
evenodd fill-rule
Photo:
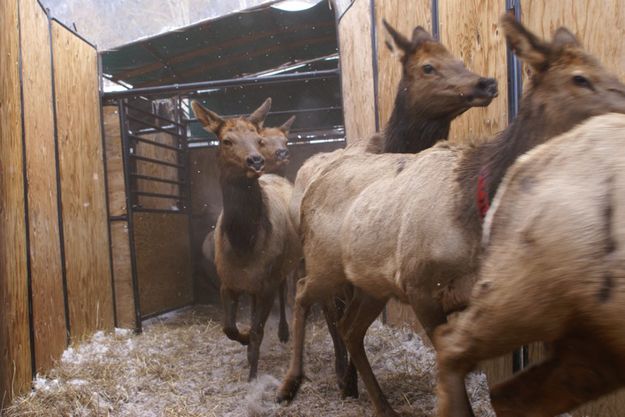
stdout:
<svg viewBox="0 0 625 417">
<path fill-rule="evenodd" d="M 119 125 L 122 134 L 122 159 L 124 164 L 124 184 L 126 186 L 126 212 L 128 216 L 128 246 L 130 248 L 130 269 L 132 275 L 132 295 L 135 303 L 135 331 L 141 333 L 141 305 L 139 304 L 139 279 L 137 272 L 137 253 L 135 247 L 135 229 L 133 222 L 133 212 L 135 209 L 132 204 L 131 178 L 130 178 L 130 140 L 128 138 L 128 125 L 126 121 L 126 109 L 124 100 L 119 100 Z"/>
</svg>

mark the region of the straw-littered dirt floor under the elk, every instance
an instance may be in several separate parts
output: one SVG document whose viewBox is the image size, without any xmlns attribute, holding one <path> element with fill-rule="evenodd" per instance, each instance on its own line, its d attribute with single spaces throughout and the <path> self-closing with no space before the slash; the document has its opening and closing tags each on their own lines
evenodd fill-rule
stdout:
<svg viewBox="0 0 625 417">
<path fill-rule="evenodd" d="M 247 316 L 248 314 L 246 314 Z M 289 406 L 274 402 L 286 373 L 290 345 L 278 341 L 276 318 L 265 332 L 260 377 L 247 382 L 245 347 L 224 336 L 215 307 L 193 307 L 152 319 L 141 335 L 99 332 L 69 348 L 58 366 L 38 376 L 30 395 L 7 411 L 16 416 L 372 416 L 364 386 L 360 398 L 341 400 L 333 350 L 322 322 L 307 329 L 306 375 Z M 374 323 L 366 338 L 374 372 L 402 415 L 432 416 L 433 350 L 408 329 Z M 469 378 L 476 417 L 494 413 L 482 374 Z"/>
</svg>

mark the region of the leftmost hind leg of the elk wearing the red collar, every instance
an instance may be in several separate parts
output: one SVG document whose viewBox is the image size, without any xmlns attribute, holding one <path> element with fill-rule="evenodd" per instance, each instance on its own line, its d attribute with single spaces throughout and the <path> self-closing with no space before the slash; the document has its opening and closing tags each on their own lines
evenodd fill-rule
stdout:
<svg viewBox="0 0 625 417">
<path fill-rule="evenodd" d="M 278 390 L 278 402 L 292 401 L 304 377 L 304 342 L 306 339 L 306 319 L 310 307 L 315 302 L 314 288 L 309 277 L 297 281 L 295 304 L 293 305 L 293 351 L 284 382 Z"/>
</svg>

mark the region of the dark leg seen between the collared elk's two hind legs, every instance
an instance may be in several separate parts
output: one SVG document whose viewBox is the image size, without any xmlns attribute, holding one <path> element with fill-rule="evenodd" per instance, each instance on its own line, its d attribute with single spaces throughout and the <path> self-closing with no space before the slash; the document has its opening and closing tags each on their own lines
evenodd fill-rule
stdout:
<svg viewBox="0 0 625 417">
<path fill-rule="evenodd" d="M 334 369 L 343 398 L 358 398 L 358 377 L 353 365 L 348 367 L 349 357 L 345 342 L 339 335 L 337 323 L 343 316 L 344 300 L 338 297 L 323 303 L 323 315 L 334 345 Z M 351 362 L 349 362 L 351 364 Z"/>
</svg>

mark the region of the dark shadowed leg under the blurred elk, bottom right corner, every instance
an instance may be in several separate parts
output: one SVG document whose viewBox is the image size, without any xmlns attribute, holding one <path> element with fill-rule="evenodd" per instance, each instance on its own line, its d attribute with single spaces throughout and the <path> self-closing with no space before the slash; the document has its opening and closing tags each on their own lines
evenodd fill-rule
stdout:
<svg viewBox="0 0 625 417">
<path fill-rule="evenodd" d="M 551 417 L 620 386 L 610 354 L 597 339 L 566 338 L 553 355 L 491 390 L 500 417 Z"/>
</svg>

